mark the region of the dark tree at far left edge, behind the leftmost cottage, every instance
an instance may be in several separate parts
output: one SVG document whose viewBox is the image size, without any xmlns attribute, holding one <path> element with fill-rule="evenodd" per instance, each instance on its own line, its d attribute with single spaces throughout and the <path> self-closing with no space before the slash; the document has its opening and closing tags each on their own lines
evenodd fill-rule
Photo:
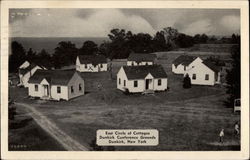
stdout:
<svg viewBox="0 0 250 160">
<path fill-rule="evenodd" d="M 18 67 L 26 60 L 26 51 L 17 41 L 11 43 L 11 55 L 9 57 L 9 72 L 17 72 Z"/>
</svg>

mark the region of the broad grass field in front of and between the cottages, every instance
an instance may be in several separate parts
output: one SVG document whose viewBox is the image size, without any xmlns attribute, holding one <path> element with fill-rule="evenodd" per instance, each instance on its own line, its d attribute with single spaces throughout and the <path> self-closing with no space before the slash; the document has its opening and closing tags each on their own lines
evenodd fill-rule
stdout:
<svg viewBox="0 0 250 160">
<path fill-rule="evenodd" d="M 81 144 L 90 144 L 97 129 L 158 129 L 158 146 L 115 150 L 240 150 L 239 138 L 233 134 L 233 125 L 240 116 L 224 106 L 225 88 L 218 85 L 183 89 L 182 76 L 171 73 L 171 62 L 180 54 L 157 53 L 158 63 L 168 74 L 167 92 L 124 95 L 116 89 L 114 75 L 122 65 L 116 62 L 113 78 L 109 72 L 83 73 L 86 94 L 69 102 L 31 100 L 27 89 L 17 87 L 9 88 L 10 97 L 34 106 Z M 229 54 L 224 56 L 228 58 Z M 223 145 L 217 143 L 221 128 L 225 129 Z"/>
</svg>

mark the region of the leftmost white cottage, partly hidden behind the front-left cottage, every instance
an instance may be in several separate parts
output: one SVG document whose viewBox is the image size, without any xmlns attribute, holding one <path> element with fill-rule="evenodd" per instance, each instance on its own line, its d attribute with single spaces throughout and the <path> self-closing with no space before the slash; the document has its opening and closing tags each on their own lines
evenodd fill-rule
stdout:
<svg viewBox="0 0 250 160">
<path fill-rule="evenodd" d="M 43 66 L 36 65 L 34 63 L 30 63 L 28 61 L 25 61 L 20 67 L 19 67 L 19 86 L 28 87 L 28 81 L 29 78 L 36 72 L 38 69 L 46 69 Z"/>
</svg>

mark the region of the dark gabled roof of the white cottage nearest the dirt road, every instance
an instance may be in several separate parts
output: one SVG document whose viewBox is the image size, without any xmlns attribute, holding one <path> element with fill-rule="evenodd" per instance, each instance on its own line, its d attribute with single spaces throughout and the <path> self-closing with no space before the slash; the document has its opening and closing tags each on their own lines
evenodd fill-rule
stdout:
<svg viewBox="0 0 250 160">
<path fill-rule="evenodd" d="M 52 85 L 68 85 L 76 73 L 75 70 L 42 70 L 38 69 L 29 79 L 29 83 L 41 83 L 46 79 Z"/>
</svg>

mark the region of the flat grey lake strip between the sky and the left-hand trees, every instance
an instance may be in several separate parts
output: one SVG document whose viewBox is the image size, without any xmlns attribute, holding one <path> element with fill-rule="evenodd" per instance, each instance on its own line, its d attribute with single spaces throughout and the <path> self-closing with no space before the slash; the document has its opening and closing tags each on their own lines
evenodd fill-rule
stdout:
<svg viewBox="0 0 250 160">
<path fill-rule="evenodd" d="M 45 37 L 45 38 L 33 38 L 33 37 L 12 37 L 10 38 L 10 43 L 17 41 L 23 45 L 26 51 L 32 48 L 33 51 L 40 52 L 45 49 L 48 53 L 54 53 L 54 49 L 57 47 L 58 43 L 61 41 L 71 41 L 80 48 L 85 41 L 93 41 L 100 45 L 103 41 L 108 41 L 107 37 Z"/>
</svg>

